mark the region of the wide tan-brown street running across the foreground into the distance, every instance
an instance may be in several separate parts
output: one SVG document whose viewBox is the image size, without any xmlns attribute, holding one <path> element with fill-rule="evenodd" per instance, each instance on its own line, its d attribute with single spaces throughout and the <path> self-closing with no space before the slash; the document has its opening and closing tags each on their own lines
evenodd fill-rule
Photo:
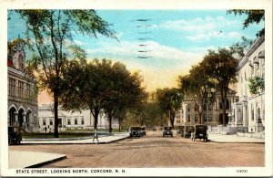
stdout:
<svg viewBox="0 0 273 178">
<path fill-rule="evenodd" d="M 67 167 L 233 167 L 264 166 L 265 145 L 190 141 L 161 131 L 110 144 L 26 144 L 10 151 L 66 154 L 66 159 L 45 164 L 46 168 Z"/>
</svg>

